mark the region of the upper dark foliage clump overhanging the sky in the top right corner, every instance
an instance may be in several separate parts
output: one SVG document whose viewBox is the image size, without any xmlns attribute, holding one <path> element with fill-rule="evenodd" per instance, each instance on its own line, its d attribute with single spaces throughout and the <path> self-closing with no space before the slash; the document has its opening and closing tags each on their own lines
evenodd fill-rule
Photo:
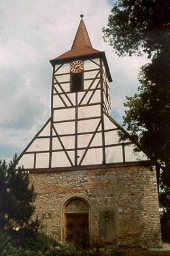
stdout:
<svg viewBox="0 0 170 256">
<path fill-rule="evenodd" d="M 169 48 L 169 14 L 169 0 L 117 0 L 103 28 L 104 38 L 118 55 L 144 51 L 151 57 Z"/>
</svg>

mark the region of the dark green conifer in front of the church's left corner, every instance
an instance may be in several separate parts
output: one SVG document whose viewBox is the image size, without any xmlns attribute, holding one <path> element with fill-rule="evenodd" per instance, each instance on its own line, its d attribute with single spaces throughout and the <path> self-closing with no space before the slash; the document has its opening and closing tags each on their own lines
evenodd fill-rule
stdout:
<svg viewBox="0 0 170 256">
<path fill-rule="evenodd" d="M 9 167 L 0 161 L 0 228 L 29 228 L 35 210 L 33 202 L 36 194 L 33 185 L 29 185 L 29 173 L 18 167 L 14 156 Z"/>
</svg>

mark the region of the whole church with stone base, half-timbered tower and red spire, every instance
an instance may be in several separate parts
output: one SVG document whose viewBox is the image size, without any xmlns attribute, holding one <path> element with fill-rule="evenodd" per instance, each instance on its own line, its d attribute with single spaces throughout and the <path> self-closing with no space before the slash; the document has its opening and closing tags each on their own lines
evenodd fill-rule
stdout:
<svg viewBox="0 0 170 256">
<path fill-rule="evenodd" d="M 112 76 L 83 15 L 71 50 L 50 63 L 51 117 L 18 158 L 41 230 L 76 246 L 161 246 L 156 170 L 111 116 Z"/>
</svg>

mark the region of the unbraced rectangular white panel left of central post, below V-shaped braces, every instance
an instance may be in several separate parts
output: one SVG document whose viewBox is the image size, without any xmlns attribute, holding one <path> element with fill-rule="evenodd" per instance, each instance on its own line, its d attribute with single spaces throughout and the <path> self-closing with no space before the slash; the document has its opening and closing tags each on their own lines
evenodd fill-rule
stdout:
<svg viewBox="0 0 170 256">
<path fill-rule="evenodd" d="M 54 122 L 75 119 L 75 109 L 54 110 Z"/>
</svg>

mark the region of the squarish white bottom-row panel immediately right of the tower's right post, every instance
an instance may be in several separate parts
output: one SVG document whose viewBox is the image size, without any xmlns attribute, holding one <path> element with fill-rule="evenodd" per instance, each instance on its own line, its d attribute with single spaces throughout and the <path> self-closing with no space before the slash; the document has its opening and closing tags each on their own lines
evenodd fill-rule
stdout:
<svg viewBox="0 0 170 256">
<path fill-rule="evenodd" d="M 122 146 L 105 147 L 105 162 L 107 164 L 123 162 Z"/>
</svg>

